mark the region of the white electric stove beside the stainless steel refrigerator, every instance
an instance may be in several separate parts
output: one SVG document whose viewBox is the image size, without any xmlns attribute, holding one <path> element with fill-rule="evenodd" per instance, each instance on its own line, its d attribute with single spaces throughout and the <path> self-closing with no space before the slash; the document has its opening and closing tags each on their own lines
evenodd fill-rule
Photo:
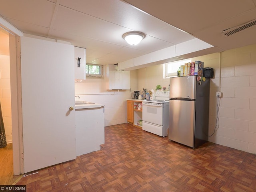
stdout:
<svg viewBox="0 0 256 192">
<path fill-rule="evenodd" d="M 142 130 L 165 137 L 169 128 L 169 91 L 157 91 L 156 99 L 142 102 Z"/>
</svg>

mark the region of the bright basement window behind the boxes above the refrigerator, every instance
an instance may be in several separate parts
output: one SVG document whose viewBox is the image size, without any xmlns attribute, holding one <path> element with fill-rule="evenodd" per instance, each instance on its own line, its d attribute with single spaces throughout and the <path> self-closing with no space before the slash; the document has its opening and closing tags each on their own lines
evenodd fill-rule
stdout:
<svg viewBox="0 0 256 192">
<path fill-rule="evenodd" d="M 185 63 L 190 62 L 191 59 L 186 59 L 186 60 L 178 60 L 174 62 L 169 62 L 164 64 L 164 78 L 170 78 L 170 77 L 176 77 L 177 76 L 177 71 L 180 68 L 181 65 L 184 65 Z"/>
</svg>

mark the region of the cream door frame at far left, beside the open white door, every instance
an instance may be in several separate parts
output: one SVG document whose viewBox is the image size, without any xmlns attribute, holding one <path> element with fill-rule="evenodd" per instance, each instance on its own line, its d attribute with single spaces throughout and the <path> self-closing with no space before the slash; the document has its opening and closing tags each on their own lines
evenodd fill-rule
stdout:
<svg viewBox="0 0 256 192">
<path fill-rule="evenodd" d="M 20 36 L 23 33 L 0 17 L 0 28 L 9 35 L 10 50 L 10 85 L 12 102 L 12 147 L 14 175 L 24 174 L 23 134 L 22 134 L 22 97 L 21 97 L 21 63 Z"/>
</svg>

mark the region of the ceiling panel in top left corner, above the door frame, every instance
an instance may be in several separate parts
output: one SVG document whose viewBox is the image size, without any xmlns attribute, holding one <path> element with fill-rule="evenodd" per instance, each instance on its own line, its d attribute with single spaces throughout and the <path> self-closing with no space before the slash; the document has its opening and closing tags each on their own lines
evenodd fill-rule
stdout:
<svg viewBox="0 0 256 192">
<path fill-rule="evenodd" d="M 4 6 L 2 6 L 4 4 Z M 8 9 L 6 9 L 8 7 Z M 50 27 L 55 4 L 47 0 L 1 0 L 0 13 L 4 18 Z M 11 23 L 11 22 L 10 22 Z"/>
</svg>

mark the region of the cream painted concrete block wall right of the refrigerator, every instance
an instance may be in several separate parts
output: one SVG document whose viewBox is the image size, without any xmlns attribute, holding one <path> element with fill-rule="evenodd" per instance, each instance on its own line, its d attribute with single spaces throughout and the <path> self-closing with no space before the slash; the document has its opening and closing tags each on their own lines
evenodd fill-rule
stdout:
<svg viewBox="0 0 256 192">
<path fill-rule="evenodd" d="M 256 154 L 256 45 L 210 54 L 193 60 L 213 67 L 210 82 L 210 142 Z M 220 66 L 220 67 L 219 67 Z M 219 86 L 220 85 L 220 86 Z M 216 91 L 221 91 L 216 126 Z"/>
</svg>

